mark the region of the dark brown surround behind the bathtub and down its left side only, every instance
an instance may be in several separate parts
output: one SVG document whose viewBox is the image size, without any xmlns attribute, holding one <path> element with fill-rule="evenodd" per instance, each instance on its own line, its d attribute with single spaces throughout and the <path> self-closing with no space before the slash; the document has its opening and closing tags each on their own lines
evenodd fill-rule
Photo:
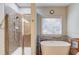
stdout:
<svg viewBox="0 0 79 59">
<path fill-rule="evenodd" d="M 69 37 L 67 35 L 38 35 L 37 38 L 37 55 L 41 53 L 41 42 L 42 41 L 66 41 L 69 42 Z M 70 42 L 69 42 L 70 43 Z"/>
</svg>

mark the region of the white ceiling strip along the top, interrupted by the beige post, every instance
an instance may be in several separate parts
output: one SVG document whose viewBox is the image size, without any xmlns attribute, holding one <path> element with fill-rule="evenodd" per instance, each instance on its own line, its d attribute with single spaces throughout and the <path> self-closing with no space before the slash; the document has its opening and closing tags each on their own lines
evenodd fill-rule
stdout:
<svg viewBox="0 0 79 59">
<path fill-rule="evenodd" d="M 20 8 L 30 7 L 30 3 L 16 3 Z M 37 7 L 49 7 L 49 6 L 69 6 L 70 3 L 36 3 Z"/>
</svg>

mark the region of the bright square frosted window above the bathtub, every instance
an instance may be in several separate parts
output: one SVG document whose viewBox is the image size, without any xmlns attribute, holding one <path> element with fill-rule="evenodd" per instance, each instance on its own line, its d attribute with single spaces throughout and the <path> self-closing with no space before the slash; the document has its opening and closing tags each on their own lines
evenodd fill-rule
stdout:
<svg viewBox="0 0 79 59">
<path fill-rule="evenodd" d="M 42 34 L 61 34 L 62 21 L 61 17 L 43 18 L 42 19 Z"/>
</svg>

